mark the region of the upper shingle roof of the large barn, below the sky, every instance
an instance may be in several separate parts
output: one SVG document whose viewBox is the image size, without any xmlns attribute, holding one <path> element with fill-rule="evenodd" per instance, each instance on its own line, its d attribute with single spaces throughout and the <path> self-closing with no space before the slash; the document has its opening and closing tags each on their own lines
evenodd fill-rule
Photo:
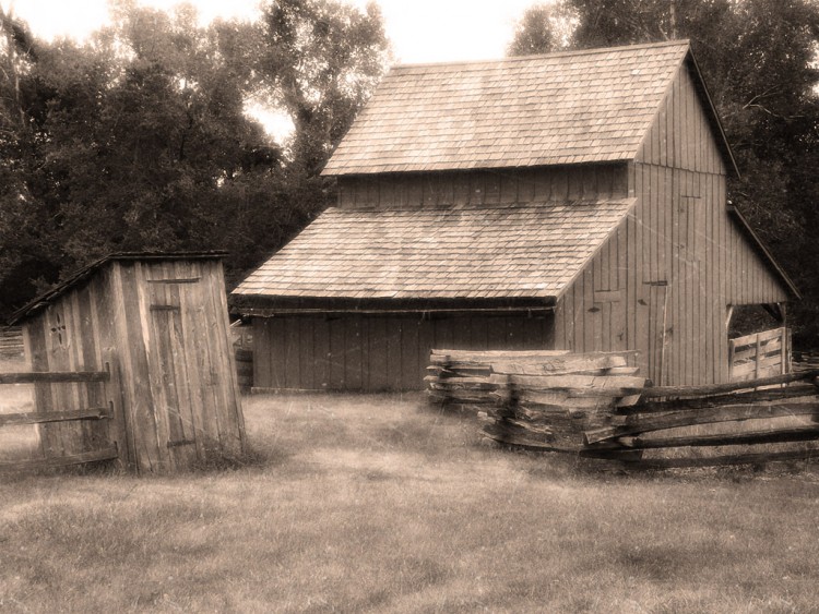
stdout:
<svg viewBox="0 0 819 614">
<path fill-rule="evenodd" d="M 633 159 L 688 41 L 403 65 L 324 174 Z"/>
</svg>

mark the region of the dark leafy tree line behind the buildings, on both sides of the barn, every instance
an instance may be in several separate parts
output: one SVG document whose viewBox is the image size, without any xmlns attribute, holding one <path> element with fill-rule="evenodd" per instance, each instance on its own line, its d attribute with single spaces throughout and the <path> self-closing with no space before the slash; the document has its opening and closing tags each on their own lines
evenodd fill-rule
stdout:
<svg viewBox="0 0 819 614">
<path fill-rule="evenodd" d="M 83 44 L 0 10 L 0 316 L 109 252 L 226 250 L 238 281 L 333 202 L 321 168 L 390 61 L 376 4 L 270 0 L 209 26 L 186 5 L 111 5 Z M 524 12 L 509 53 L 674 38 L 737 159 L 728 197 L 803 291 L 797 335 L 816 346 L 819 0 L 555 0 Z"/>
</svg>

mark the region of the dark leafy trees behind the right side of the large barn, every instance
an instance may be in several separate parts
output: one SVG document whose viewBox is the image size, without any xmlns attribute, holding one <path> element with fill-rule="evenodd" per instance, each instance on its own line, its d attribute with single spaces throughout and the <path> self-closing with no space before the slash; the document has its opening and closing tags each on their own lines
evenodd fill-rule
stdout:
<svg viewBox="0 0 819 614">
<path fill-rule="evenodd" d="M 819 344 L 819 3 L 816 0 L 558 0 L 572 48 L 689 38 L 743 173 L 739 206 L 795 277 L 803 345 Z M 518 34 L 515 41 L 525 34 Z M 512 47 L 514 48 L 513 41 Z"/>
</svg>

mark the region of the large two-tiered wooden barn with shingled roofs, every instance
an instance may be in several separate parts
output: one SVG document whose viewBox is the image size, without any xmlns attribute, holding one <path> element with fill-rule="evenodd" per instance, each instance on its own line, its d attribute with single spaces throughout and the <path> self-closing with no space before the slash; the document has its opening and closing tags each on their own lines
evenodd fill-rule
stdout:
<svg viewBox="0 0 819 614">
<path fill-rule="evenodd" d="M 257 387 L 422 388 L 434 347 L 723 382 L 733 308 L 798 297 L 687 41 L 394 68 L 323 172 L 337 204 L 233 292 Z"/>
</svg>

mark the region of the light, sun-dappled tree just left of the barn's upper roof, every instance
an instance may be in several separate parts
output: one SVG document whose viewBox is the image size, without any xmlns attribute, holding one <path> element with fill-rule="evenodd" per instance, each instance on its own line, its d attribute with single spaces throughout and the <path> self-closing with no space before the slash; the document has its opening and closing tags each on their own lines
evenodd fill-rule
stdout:
<svg viewBox="0 0 819 614">
<path fill-rule="evenodd" d="M 295 125 L 293 161 L 316 173 L 383 74 L 381 14 L 375 3 L 361 13 L 334 0 L 277 0 L 262 28 L 256 68 Z"/>
</svg>

